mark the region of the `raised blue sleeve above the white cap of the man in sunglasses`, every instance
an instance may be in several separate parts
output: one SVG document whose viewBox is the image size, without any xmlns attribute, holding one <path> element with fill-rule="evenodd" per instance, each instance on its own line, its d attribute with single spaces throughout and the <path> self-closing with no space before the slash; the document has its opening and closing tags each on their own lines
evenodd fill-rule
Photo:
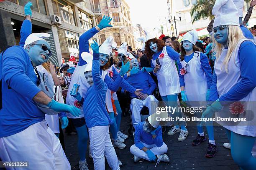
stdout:
<svg viewBox="0 0 256 170">
<path fill-rule="evenodd" d="M 30 20 L 24 20 L 20 28 L 20 43 L 21 47 L 24 47 L 25 41 L 28 35 L 32 33 L 32 23 Z"/>
</svg>

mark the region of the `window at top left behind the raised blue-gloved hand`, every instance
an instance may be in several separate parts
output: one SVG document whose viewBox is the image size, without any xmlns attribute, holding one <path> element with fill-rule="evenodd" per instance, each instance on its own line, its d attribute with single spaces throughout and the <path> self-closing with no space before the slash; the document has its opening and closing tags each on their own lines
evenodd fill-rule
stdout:
<svg viewBox="0 0 256 170">
<path fill-rule="evenodd" d="M 9 1 L 19 4 L 20 6 L 23 6 L 23 7 L 28 2 L 28 0 L 9 0 Z M 47 15 L 46 8 L 44 5 L 44 0 L 30 0 L 30 1 L 33 3 L 32 5 L 33 11 Z"/>
</svg>

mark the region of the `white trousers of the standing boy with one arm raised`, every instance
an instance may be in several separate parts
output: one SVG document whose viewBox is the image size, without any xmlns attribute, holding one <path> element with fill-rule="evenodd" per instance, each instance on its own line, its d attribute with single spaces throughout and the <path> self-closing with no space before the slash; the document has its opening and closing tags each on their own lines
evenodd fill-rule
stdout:
<svg viewBox="0 0 256 170">
<path fill-rule="evenodd" d="M 109 126 L 89 128 L 90 150 L 95 170 L 105 170 L 105 158 L 112 170 L 120 170 L 118 158 L 109 136 Z"/>
</svg>

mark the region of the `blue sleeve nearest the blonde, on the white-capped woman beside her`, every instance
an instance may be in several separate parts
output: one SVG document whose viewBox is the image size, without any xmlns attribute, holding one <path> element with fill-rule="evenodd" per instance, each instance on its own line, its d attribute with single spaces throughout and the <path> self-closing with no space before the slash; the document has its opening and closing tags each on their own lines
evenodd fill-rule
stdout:
<svg viewBox="0 0 256 170">
<path fill-rule="evenodd" d="M 202 69 L 205 71 L 206 74 L 207 89 L 209 89 L 212 83 L 212 68 L 209 65 L 208 57 L 205 54 L 200 53 L 200 61 Z"/>
</svg>

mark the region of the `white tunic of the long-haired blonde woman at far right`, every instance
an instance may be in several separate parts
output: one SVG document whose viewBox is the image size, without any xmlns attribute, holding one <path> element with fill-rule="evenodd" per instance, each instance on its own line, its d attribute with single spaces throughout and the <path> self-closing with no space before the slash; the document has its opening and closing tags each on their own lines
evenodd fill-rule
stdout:
<svg viewBox="0 0 256 170">
<path fill-rule="evenodd" d="M 226 73 L 225 65 L 223 65 L 223 61 L 225 59 L 228 49 L 224 49 L 220 57 L 218 57 L 218 60 L 215 62 L 214 70 L 215 74 L 217 75 L 217 90 L 219 97 L 227 93 L 233 86 L 235 86 L 239 81 L 241 81 L 241 70 L 238 50 L 241 45 L 241 42 L 243 41 L 244 40 L 239 41 L 238 45 L 233 51 L 230 61 L 228 62 L 228 73 Z M 242 103 L 245 105 L 245 110 L 247 110 L 245 113 L 241 115 L 233 115 L 229 112 L 229 105 L 227 105 L 224 106 L 223 110 L 221 110 L 220 112 L 216 112 L 215 117 L 222 117 L 222 115 L 225 115 L 225 117 L 246 117 L 246 120 L 251 121 L 236 122 L 236 126 L 234 126 L 234 122 L 232 122 L 232 124 L 230 124 L 230 122 L 224 121 L 216 122 L 218 122 L 218 124 L 222 125 L 224 128 L 227 128 L 228 130 L 234 133 L 256 137 L 256 117 L 254 117 L 255 114 L 253 113 L 256 110 L 256 105 L 255 102 L 249 102 L 256 101 L 256 88 L 254 88 L 246 97 L 244 97 L 240 101 L 242 101 Z M 252 110 L 253 112 L 250 112 L 248 110 Z"/>
</svg>

